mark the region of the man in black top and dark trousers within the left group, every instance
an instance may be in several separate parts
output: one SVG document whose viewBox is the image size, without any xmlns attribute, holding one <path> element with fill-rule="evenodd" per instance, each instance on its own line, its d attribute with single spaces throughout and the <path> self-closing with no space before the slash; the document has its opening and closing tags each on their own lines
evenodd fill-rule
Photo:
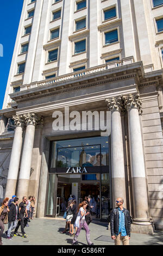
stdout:
<svg viewBox="0 0 163 256">
<path fill-rule="evenodd" d="M 21 226 L 21 233 L 22 233 L 22 237 L 27 237 L 26 232 L 24 231 L 24 214 L 26 214 L 26 217 L 28 216 L 27 214 L 27 197 L 23 197 L 22 202 L 19 205 L 19 221 L 17 223 L 16 229 L 14 231 L 14 236 L 18 236 L 18 228 Z"/>
</svg>

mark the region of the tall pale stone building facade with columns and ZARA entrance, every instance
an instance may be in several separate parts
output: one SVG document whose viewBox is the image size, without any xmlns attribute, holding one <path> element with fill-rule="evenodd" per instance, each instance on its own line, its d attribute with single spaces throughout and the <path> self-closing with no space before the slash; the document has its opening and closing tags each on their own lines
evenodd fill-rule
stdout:
<svg viewBox="0 0 163 256">
<path fill-rule="evenodd" d="M 36 216 L 55 217 L 70 194 L 91 194 L 103 221 L 123 197 L 133 231 L 162 229 L 162 13 L 162 0 L 24 0 L 0 111 L 1 198 L 34 194 Z"/>
</svg>

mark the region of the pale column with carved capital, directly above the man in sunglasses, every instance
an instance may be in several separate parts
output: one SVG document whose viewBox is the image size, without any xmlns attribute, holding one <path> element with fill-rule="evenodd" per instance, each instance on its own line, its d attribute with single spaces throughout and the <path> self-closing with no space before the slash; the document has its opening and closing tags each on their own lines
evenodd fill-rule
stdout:
<svg viewBox="0 0 163 256">
<path fill-rule="evenodd" d="M 111 111 L 111 179 L 112 179 L 112 207 L 116 206 L 116 199 L 124 199 L 126 207 L 126 184 L 124 175 L 124 155 L 121 111 L 123 110 L 122 97 L 106 99 Z"/>
</svg>

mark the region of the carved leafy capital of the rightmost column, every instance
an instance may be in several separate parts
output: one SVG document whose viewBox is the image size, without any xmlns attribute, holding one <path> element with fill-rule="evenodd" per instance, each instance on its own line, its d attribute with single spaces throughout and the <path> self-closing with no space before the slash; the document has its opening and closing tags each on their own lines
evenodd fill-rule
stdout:
<svg viewBox="0 0 163 256">
<path fill-rule="evenodd" d="M 140 99 L 140 94 L 129 94 L 123 96 L 124 107 L 128 110 L 130 108 L 137 108 L 138 111 L 142 114 L 142 103 Z"/>
</svg>

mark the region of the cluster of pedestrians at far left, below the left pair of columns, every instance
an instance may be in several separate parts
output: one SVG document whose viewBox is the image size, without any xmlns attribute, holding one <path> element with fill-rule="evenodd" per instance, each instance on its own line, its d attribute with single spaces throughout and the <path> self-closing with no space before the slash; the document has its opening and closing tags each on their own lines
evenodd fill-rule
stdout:
<svg viewBox="0 0 163 256">
<path fill-rule="evenodd" d="M 12 240 L 11 231 L 14 230 L 14 236 L 21 235 L 27 237 L 24 231 L 25 227 L 29 227 L 28 222 L 33 220 L 35 209 L 35 197 L 29 196 L 22 198 L 22 202 L 19 203 L 19 199 L 14 195 L 9 200 L 5 198 L 0 207 L 0 245 L 2 245 L 2 234 L 4 231 L 4 224 L 8 224 L 8 230 L 5 231 L 6 238 Z M 18 233 L 18 228 L 21 226 L 21 233 Z"/>
</svg>

